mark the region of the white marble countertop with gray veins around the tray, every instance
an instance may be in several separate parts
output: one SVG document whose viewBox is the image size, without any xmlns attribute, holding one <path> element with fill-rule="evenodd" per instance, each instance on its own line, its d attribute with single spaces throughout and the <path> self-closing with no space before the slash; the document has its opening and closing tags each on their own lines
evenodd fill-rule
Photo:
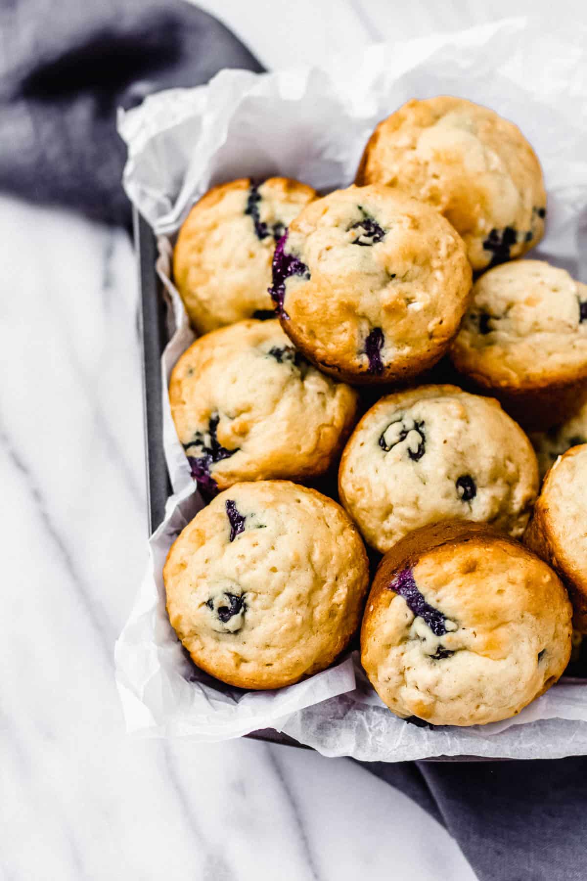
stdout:
<svg viewBox="0 0 587 881">
<path fill-rule="evenodd" d="M 201 5 L 272 67 L 488 18 L 481 4 L 473 18 L 452 4 L 440 23 L 423 5 L 399 21 L 383 0 L 297 0 L 279 16 L 262 2 Z M 132 243 L 7 197 L 0 229 L 0 879 L 437 881 L 438 866 L 473 879 L 443 828 L 354 762 L 127 737 L 114 640 L 147 528 Z"/>
</svg>

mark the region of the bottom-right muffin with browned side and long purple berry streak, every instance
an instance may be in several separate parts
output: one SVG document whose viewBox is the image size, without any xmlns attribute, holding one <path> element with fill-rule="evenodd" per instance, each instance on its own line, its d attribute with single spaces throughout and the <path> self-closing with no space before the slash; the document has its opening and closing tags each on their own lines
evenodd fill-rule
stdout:
<svg viewBox="0 0 587 881">
<path fill-rule="evenodd" d="M 571 608 L 560 579 L 486 524 L 427 526 L 382 559 L 361 660 L 393 713 L 480 725 L 519 713 L 569 662 Z"/>
</svg>

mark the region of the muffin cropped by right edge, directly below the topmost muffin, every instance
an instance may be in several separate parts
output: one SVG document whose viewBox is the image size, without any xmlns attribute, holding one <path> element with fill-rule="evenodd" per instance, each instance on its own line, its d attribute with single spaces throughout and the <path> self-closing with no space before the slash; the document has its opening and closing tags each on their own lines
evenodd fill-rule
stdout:
<svg viewBox="0 0 587 881">
<path fill-rule="evenodd" d="M 486 272 L 451 359 L 528 429 L 561 422 L 587 392 L 587 285 L 541 260 Z"/>
</svg>

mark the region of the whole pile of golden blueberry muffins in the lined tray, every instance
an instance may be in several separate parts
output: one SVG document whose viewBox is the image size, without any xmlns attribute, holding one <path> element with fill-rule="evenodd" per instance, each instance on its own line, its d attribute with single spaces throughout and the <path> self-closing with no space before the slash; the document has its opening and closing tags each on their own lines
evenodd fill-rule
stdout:
<svg viewBox="0 0 587 881">
<path fill-rule="evenodd" d="M 169 395 L 209 504 L 164 578 L 199 667 L 291 685 L 363 619 L 380 698 L 434 725 L 561 676 L 587 633 L 587 286 L 516 259 L 545 217 L 517 127 L 448 97 L 381 122 L 347 189 L 194 205 L 173 271 L 202 336 Z"/>
</svg>

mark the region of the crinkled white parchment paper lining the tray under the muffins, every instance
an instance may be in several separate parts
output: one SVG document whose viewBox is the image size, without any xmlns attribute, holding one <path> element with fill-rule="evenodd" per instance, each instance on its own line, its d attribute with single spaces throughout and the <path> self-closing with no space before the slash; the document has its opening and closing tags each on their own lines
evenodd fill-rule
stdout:
<svg viewBox="0 0 587 881">
<path fill-rule="evenodd" d="M 531 256 L 587 281 L 587 33 L 561 37 L 525 19 L 369 48 L 327 69 L 255 75 L 225 70 L 207 86 L 148 98 L 120 115 L 124 185 L 158 233 L 158 271 L 176 328 L 164 385 L 193 340 L 169 279 L 173 233 L 215 183 L 284 174 L 319 190 L 347 186 L 376 123 L 412 97 L 456 94 L 493 107 L 538 152 L 548 192 L 547 236 Z M 238 737 L 283 730 L 327 755 L 385 761 L 437 755 L 555 758 L 587 753 L 587 686 L 564 682 L 515 719 L 468 729 L 416 728 L 391 714 L 356 657 L 277 692 L 238 692 L 194 668 L 165 613 L 161 570 L 202 502 L 194 492 L 165 394 L 165 455 L 175 491 L 150 539 L 151 565 L 116 645 L 128 730 L 145 736 Z"/>
</svg>

